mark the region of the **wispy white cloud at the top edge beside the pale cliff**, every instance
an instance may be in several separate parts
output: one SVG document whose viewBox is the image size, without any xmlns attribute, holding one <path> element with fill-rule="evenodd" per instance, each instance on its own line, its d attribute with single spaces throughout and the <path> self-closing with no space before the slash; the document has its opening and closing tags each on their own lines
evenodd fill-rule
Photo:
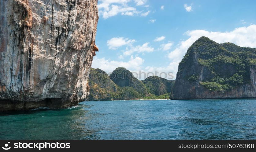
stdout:
<svg viewBox="0 0 256 152">
<path fill-rule="evenodd" d="M 98 4 L 98 14 L 104 19 L 107 19 L 117 14 L 127 15 L 127 16 L 147 16 L 149 12 L 143 13 L 143 11 L 138 11 L 135 7 L 129 6 L 130 0 L 101 0 Z M 136 5 L 143 5 L 147 0 L 135 0 Z"/>
</svg>

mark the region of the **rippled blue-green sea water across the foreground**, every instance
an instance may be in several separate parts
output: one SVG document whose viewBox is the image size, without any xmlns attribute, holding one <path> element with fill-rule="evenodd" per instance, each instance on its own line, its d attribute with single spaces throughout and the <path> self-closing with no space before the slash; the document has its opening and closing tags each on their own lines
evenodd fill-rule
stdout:
<svg viewBox="0 0 256 152">
<path fill-rule="evenodd" d="M 1 113 L 0 139 L 256 139 L 256 99 L 86 101 Z"/>
</svg>

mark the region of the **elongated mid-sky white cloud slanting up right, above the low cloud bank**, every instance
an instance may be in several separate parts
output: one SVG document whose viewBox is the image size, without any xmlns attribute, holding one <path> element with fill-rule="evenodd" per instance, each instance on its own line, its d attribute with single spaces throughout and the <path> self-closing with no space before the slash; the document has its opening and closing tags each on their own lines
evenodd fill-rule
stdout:
<svg viewBox="0 0 256 152">
<path fill-rule="evenodd" d="M 142 53 L 142 52 L 152 52 L 154 51 L 153 47 L 148 46 L 149 42 L 144 43 L 142 46 L 138 45 L 136 47 L 127 47 L 126 50 L 124 51 L 124 55 L 131 55 L 134 52 Z"/>
</svg>

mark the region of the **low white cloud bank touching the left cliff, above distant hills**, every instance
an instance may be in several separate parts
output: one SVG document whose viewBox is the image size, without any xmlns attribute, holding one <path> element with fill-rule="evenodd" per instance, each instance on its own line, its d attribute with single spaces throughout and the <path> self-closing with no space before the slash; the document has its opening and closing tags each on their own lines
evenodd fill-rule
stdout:
<svg viewBox="0 0 256 152">
<path fill-rule="evenodd" d="M 131 56 L 129 61 L 115 61 L 103 58 L 97 58 L 95 56 L 93 58 L 92 67 L 99 68 L 105 71 L 106 73 L 111 73 L 117 67 L 125 67 L 128 70 L 140 70 L 142 69 L 141 65 L 143 64 L 144 60 L 141 57 L 133 57 Z"/>
</svg>

